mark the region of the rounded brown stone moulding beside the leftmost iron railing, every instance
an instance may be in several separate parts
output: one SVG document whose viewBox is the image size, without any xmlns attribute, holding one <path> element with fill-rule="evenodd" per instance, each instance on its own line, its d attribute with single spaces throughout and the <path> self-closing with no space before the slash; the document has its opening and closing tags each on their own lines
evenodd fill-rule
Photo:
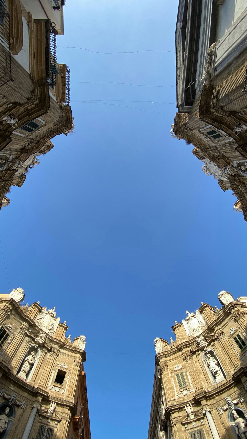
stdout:
<svg viewBox="0 0 247 439">
<path fill-rule="evenodd" d="M 23 22 L 20 0 L 9 0 L 8 8 L 10 12 L 10 49 L 13 55 L 18 55 L 23 46 Z"/>
</svg>

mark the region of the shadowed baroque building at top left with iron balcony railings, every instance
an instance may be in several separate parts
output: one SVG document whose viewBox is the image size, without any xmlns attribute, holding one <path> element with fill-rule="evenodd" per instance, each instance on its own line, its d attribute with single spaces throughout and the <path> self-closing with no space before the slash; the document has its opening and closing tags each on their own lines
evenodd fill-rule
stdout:
<svg viewBox="0 0 247 439">
<path fill-rule="evenodd" d="M 0 208 L 51 138 L 73 129 L 69 67 L 58 64 L 65 0 L 0 0 Z"/>
</svg>

